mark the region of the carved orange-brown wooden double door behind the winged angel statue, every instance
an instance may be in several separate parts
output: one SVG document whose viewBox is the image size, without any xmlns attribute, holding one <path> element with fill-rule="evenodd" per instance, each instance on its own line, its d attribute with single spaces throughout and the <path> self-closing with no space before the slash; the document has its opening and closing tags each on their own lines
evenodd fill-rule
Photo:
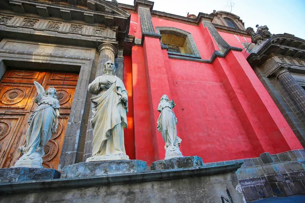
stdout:
<svg viewBox="0 0 305 203">
<path fill-rule="evenodd" d="M 47 90 L 54 87 L 60 104 L 59 125 L 44 148 L 43 167 L 57 169 L 67 129 L 78 74 L 37 70 L 8 69 L 0 81 L 0 167 L 11 167 L 21 156 L 27 118 L 36 109 L 34 81 Z"/>
</svg>

